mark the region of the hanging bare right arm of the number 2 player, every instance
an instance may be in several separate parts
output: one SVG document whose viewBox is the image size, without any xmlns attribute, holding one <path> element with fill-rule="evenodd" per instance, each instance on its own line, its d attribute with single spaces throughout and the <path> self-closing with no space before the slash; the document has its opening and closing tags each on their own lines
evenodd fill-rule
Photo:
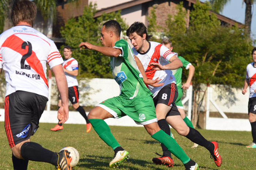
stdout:
<svg viewBox="0 0 256 170">
<path fill-rule="evenodd" d="M 68 84 L 62 65 L 56 65 L 52 68 L 55 75 L 56 84 L 60 92 L 62 105 L 58 110 L 59 123 L 65 123 L 68 120 Z"/>
</svg>

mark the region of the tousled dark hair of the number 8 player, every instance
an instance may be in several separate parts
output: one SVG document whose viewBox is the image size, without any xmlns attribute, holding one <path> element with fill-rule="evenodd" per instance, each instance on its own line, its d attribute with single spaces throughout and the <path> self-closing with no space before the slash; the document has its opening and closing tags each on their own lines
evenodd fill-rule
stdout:
<svg viewBox="0 0 256 170">
<path fill-rule="evenodd" d="M 137 33 L 140 37 L 143 37 L 143 34 L 146 34 L 146 40 L 150 39 L 153 35 L 147 34 L 147 28 L 142 22 L 134 22 L 128 30 L 126 30 L 126 36 Z"/>
</svg>

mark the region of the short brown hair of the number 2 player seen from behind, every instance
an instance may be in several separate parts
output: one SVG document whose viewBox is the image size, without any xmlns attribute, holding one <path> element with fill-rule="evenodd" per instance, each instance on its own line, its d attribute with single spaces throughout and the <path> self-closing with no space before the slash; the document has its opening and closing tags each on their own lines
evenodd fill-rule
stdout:
<svg viewBox="0 0 256 170">
<path fill-rule="evenodd" d="M 11 19 L 14 26 L 20 21 L 33 26 L 37 15 L 37 5 L 30 0 L 14 0 L 11 9 Z"/>
</svg>

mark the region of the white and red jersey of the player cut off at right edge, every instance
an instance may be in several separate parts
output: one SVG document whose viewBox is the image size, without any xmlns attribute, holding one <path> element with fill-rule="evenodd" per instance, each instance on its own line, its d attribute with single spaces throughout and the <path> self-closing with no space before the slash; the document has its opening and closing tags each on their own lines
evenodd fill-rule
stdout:
<svg viewBox="0 0 256 170">
<path fill-rule="evenodd" d="M 256 67 L 253 67 L 253 62 L 246 67 L 246 79 L 250 82 L 250 96 L 249 98 L 256 97 L 254 90 L 256 89 Z"/>
</svg>

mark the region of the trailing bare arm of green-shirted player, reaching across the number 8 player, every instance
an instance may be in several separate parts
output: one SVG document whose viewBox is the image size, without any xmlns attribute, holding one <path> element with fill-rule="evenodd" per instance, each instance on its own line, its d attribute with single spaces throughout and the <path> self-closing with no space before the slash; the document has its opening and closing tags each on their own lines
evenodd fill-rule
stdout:
<svg viewBox="0 0 256 170">
<path fill-rule="evenodd" d="M 155 80 L 148 80 L 147 76 L 146 76 L 146 73 L 144 71 L 143 65 L 140 62 L 140 59 L 137 56 L 134 56 L 134 59 L 135 59 L 135 62 L 137 64 L 138 68 L 139 68 L 140 73 L 143 76 L 143 82 L 145 84 L 148 84 L 148 85 L 153 86 L 153 87 L 163 86 L 164 83 L 159 83 L 162 79 L 158 80 L 159 78 L 156 78 Z"/>
</svg>

